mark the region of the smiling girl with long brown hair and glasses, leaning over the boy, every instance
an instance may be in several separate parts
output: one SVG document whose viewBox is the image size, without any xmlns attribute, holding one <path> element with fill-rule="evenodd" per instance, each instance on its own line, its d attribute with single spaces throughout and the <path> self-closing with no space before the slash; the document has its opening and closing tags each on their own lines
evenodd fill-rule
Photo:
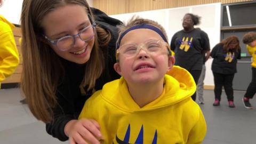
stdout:
<svg viewBox="0 0 256 144">
<path fill-rule="evenodd" d="M 85 0 L 23 1 L 21 90 L 53 137 L 102 139 L 97 122 L 77 117 L 93 92 L 119 78 L 113 66 L 120 24 Z"/>
</svg>

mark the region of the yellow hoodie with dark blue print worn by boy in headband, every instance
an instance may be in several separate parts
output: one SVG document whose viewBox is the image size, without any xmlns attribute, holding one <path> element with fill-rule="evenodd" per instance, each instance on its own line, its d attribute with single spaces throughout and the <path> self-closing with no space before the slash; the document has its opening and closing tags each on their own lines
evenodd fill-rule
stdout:
<svg viewBox="0 0 256 144">
<path fill-rule="evenodd" d="M 142 108 L 133 101 L 123 77 L 105 84 L 85 102 L 79 119 L 100 124 L 102 143 L 201 143 L 206 123 L 190 98 L 196 90 L 194 79 L 178 66 L 168 74 L 162 95 Z"/>
</svg>

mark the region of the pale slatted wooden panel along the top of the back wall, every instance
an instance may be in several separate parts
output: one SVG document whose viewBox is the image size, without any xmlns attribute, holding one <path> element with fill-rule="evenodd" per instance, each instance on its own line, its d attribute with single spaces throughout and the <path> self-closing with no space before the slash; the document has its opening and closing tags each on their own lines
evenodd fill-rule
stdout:
<svg viewBox="0 0 256 144">
<path fill-rule="evenodd" d="M 170 9 L 190 5 L 201 5 L 210 3 L 237 3 L 253 0 L 94 0 L 96 7 L 107 14 L 132 13 L 140 11 Z"/>
</svg>

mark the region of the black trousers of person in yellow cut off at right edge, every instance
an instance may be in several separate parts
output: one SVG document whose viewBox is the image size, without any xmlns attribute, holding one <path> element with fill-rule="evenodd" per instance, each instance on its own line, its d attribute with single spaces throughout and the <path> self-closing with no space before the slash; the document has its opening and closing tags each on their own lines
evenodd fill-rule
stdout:
<svg viewBox="0 0 256 144">
<path fill-rule="evenodd" d="M 252 99 L 256 93 L 256 68 L 252 67 L 252 81 L 247 87 L 244 97 Z"/>
</svg>

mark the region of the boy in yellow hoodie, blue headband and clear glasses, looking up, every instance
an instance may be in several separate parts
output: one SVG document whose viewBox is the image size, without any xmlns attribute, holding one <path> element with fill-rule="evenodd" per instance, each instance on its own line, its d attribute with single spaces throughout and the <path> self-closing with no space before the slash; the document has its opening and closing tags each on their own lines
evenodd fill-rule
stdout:
<svg viewBox="0 0 256 144">
<path fill-rule="evenodd" d="M 122 77 L 95 92 L 79 116 L 99 123 L 102 143 L 201 143 L 206 123 L 190 98 L 196 84 L 173 67 L 164 28 L 133 18 L 121 27 L 116 55 Z"/>
</svg>

